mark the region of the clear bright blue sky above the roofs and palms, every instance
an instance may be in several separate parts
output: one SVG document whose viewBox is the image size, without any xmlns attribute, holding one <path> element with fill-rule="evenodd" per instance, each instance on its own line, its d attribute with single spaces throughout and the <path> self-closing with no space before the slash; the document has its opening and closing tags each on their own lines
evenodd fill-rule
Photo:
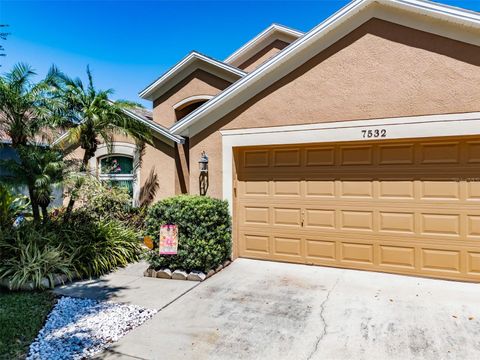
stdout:
<svg viewBox="0 0 480 360">
<path fill-rule="evenodd" d="M 0 71 L 21 61 L 43 75 L 55 63 L 84 77 L 89 64 L 99 88 L 142 102 L 138 92 L 191 50 L 222 60 L 271 23 L 308 31 L 348 2 L 0 0 L 12 33 Z M 480 0 L 443 2 L 480 11 Z"/>
</svg>

